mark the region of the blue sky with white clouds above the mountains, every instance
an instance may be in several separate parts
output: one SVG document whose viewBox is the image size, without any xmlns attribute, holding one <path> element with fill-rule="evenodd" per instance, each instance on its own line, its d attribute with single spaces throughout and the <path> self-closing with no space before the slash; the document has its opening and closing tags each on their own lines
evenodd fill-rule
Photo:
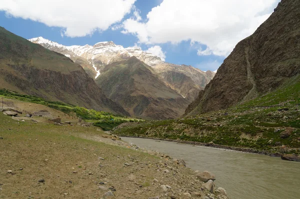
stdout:
<svg viewBox="0 0 300 199">
<path fill-rule="evenodd" d="M 127 4 L 123 5 L 120 0 L 102 0 L 99 4 L 91 0 L 73 0 L 70 2 L 73 2 L 74 10 L 62 14 L 55 11 L 59 9 L 55 6 L 51 9 L 51 2 L 53 4 L 55 0 L 45 1 L 49 4 L 44 2 L 41 7 L 33 8 L 29 0 L 23 5 L 19 1 L 19 9 L 15 5 L 0 5 L 0 26 L 27 39 L 42 36 L 63 45 L 93 45 L 107 40 L 124 47 L 138 45 L 143 50 L 158 45 L 165 61 L 192 65 L 201 70 L 217 69 L 235 44 L 250 35 L 278 3 L 278 0 L 265 0 L 261 5 L 252 6 L 251 0 L 241 4 L 227 0 L 226 5 L 240 7 L 240 10 L 232 10 L 230 6 L 226 10 L 224 5 L 213 4 L 217 0 L 211 0 L 213 7 L 205 0 L 125 0 Z M 89 16 L 92 14 L 82 4 L 88 4 L 87 1 L 90 1 L 88 9 L 103 8 Z M 109 4 L 112 1 L 114 4 Z M 37 12 L 36 9 L 43 10 Z M 247 9 L 246 15 L 242 9 Z M 105 10 L 107 12 L 103 13 Z M 114 19 L 115 14 L 109 14 L 115 10 L 120 14 Z M 110 21 L 99 22 L 95 17 L 107 17 Z"/>
</svg>

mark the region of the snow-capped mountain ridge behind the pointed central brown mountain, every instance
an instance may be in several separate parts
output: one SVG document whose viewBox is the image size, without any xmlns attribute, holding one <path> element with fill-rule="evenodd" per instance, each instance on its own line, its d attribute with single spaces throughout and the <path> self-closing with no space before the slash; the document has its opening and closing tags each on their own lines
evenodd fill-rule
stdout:
<svg viewBox="0 0 300 199">
<path fill-rule="evenodd" d="M 29 41 L 38 43 L 50 50 L 64 54 L 75 63 L 80 64 L 86 72 L 94 78 L 100 78 L 105 65 L 126 60 L 135 56 L 153 68 L 158 77 L 169 87 L 176 90 L 183 97 L 193 100 L 198 91 L 213 78 L 214 72 L 201 71 L 187 65 L 176 65 L 164 62 L 160 57 L 143 51 L 139 47 L 123 47 L 112 41 L 101 41 L 94 45 L 65 46 L 43 37 L 31 38 Z"/>
</svg>

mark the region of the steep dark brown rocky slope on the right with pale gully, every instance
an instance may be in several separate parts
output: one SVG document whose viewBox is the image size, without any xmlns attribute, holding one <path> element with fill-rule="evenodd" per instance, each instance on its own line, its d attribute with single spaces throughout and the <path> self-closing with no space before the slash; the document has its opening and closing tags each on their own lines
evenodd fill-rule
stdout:
<svg viewBox="0 0 300 199">
<path fill-rule="evenodd" d="M 276 89 L 300 73 L 300 1 L 281 0 L 233 49 L 185 115 L 227 108 Z"/>
</svg>

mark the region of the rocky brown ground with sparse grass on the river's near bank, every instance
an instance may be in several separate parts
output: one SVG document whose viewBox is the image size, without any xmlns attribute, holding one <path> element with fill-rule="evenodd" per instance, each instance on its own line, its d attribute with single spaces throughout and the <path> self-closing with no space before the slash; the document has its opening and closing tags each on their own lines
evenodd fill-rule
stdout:
<svg viewBox="0 0 300 199">
<path fill-rule="evenodd" d="M 212 173 L 186 168 L 183 160 L 130 145 L 57 110 L 47 111 L 59 114 L 60 123 L 28 117 L 43 105 L 6 105 L 12 107 L 5 111 L 22 113 L 14 119 L 0 113 L 0 198 L 227 198 Z"/>
</svg>

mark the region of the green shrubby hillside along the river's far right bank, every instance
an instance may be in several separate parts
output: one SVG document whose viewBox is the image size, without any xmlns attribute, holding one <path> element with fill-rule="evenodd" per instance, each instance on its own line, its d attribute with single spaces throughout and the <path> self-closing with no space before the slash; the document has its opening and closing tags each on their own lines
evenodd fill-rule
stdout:
<svg viewBox="0 0 300 199">
<path fill-rule="evenodd" d="M 162 121 L 134 122 L 114 133 L 178 141 L 195 141 L 218 147 L 245 147 L 245 151 L 300 153 L 300 75 L 276 91 L 224 110 Z M 251 149 L 250 149 L 251 148 Z"/>
</svg>

